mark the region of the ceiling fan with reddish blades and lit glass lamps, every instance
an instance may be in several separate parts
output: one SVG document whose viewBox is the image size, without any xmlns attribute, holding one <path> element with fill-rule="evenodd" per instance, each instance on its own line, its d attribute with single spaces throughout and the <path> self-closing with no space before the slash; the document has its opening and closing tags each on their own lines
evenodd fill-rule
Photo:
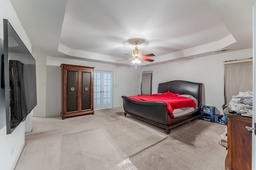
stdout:
<svg viewBox="0 0 256 170">
<path fill-rule="evenodd" d="M 138 47 L 137 47 L 138 42 L 139 41 L 137 41 L 137 40 L 134 41 L 134 43 L 136 44 L 136 47 L 135 47 L 135 49 L 133 51 L 131 51 L 132 57 L 130 58 L 130 60 L 132 61 L 132 64 L 135 64 L 135 68 L 137 68 L 137 64 L 141 63 L 141 60 L 152 62 L 154 60 L 148 59 L 146 57 L 155 56 L 152 53 L 151 54 L 142 55 L 142 51 L 138 50 Z M 127 60 L 127 59 L 122 59 L 122 60 Z M 118 60 L 118 61 L 122 61 L 122 60 Z"/>
</svg>

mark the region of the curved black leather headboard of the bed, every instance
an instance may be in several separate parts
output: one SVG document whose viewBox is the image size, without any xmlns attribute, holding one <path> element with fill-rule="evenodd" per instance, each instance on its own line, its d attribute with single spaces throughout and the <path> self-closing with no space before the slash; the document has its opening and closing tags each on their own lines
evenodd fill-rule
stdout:
<svg viewBox="0 0 256 170">
<path fill-rule="evenodd" d="M 164 93 L 167 91 L 192 95 L 198 100 L 198 105 L 201 105 L 202 83 L 173 80 L 158 84 L 158 93 Z"/>
</svg>

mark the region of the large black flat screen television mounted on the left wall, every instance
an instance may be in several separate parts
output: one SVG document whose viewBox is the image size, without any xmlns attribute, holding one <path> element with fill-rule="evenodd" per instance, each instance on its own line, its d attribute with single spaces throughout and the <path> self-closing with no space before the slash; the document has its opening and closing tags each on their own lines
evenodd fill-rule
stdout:
<svg viewBox="0 0 256 170">
<path fill-rule="evenodd" d="M 4 55 L 2 55 L 1 88 L 5 89 L 6 132 L 26 119 L 37 104 L 36 60 L 12 25 L 4 19 Z"/>
</svg>

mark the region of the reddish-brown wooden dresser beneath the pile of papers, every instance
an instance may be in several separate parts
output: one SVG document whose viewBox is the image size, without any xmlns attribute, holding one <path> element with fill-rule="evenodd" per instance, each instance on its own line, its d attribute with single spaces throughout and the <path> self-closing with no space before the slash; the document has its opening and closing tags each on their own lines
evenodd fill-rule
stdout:
<svg viewBox="0 0 256 170">
<path fill-rule="evenodd" d="M 226 170 L 252 169 L 252 133 L 246 126 L 252 127 L 252 118 L 225 113 L 228 118 L 228 154 L 225 160 Z"/>
</svg>

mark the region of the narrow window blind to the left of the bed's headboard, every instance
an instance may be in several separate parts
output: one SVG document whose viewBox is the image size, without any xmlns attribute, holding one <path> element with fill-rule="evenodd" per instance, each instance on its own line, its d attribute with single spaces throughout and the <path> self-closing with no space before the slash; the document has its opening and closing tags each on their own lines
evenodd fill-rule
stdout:
<svg viewBox="0 0 256 170">
<path fill-rule="evenodd" d="M 152 71 L 142 72 L 142 81 L 141 81 L 141 94 L 147 95 L 152 93 Z"/>
</svg>

